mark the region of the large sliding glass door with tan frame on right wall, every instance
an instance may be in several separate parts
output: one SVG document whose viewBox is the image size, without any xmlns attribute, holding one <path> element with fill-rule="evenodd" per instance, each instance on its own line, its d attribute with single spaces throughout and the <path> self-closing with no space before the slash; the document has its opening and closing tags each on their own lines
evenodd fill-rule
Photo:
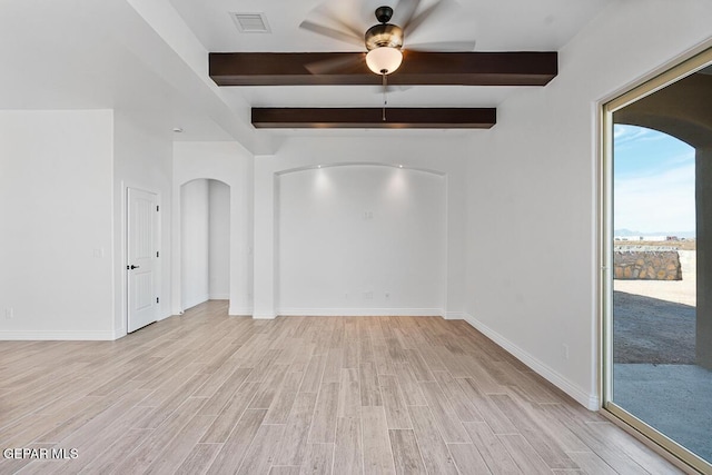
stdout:
<svg viewBox="0 0 712 475">
<path fill-rule="evenodd" d="M 604 407 L 712 469 L 712 52 L 604 107 Z"/>
</svg>

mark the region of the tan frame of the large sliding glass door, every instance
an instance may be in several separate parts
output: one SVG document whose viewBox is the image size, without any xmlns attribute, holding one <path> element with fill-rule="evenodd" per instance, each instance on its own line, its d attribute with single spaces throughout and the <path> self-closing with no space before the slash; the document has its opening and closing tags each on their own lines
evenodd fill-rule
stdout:
<svg viewBox="0 0 712 475">
<path fill-rule="evenodd" d="M 706 48 L 679 58 L 662 72 L 644 78 L 623 92 L 600 102 L 599 160 L 599 385 L 603 415 L 664 451 L 676 465 L 704 473 L 710 464 L 682 445 L 633 416 L 612 400 L 613 396 L 613 112 L 694 73 L 712 61 Z"/>
</svg>

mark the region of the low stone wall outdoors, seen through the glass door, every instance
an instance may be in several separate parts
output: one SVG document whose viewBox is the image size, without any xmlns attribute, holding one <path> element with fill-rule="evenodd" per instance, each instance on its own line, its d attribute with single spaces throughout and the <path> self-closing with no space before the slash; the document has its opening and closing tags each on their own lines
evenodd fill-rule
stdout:
<svg viewBox="0 0 712 475">
<path fill-rule="evenodd" d="M 619 246 L 613 251 L 613 278 L 621 280 L 682 280 L 674 248 Z"/>
</svg>

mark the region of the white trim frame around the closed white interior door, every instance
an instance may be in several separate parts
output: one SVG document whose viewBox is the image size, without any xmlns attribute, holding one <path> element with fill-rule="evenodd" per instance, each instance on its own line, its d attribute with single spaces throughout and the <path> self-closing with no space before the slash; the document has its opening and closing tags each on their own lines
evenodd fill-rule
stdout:
<svg viewBox="0 0 712 475">
<path fill-rule="evenodd" d="M 120 240 L 121 240 L 121 253 L 120 253 L 120 261 L 118 263 L 119 265 L 119 271 L 120 271 L 120 281 L 121 281 L 121 298 L 120 298 L 120 306 L 121 306 L 121 325 L 120 325 L 120 336 L 126 336 L 128 335 L 128 325 L 129 325 L 129 287 L 128 287 L 128 280 L 129 280 L 129 275 L 128 275 L 128 269 L 127 269 L 127 265 L 128 265 L 128 256 L 129 256 L 129 251 L 128 251 L 128 245 L 129 245 L 129 206 L 128 206 L 128 199 L 129 199 L 129 188 L 138 190 L 138 191 L 145 191 L 145 192 L 150 192 L 156 195 L 156 202 L 159 206 L 159 214 L 158 214 L 158 218 L 156 219 L 156 245 L 157 245 L 157 249 L 160 253 L 160 257 L 158 259 L 156 259 L 156 266 L 154 267 L 155 269 L 155 285 L 156 285 L 156 294 L 160 299 L 160 303 L 156 309 L 156 321 L 159 321 L 162 319 L 161 316 L 161 311 L 160 309 L 162 308 L 162 306 L 165 305 L 166 300 L 165 300 L 165 296 L 162 293 L 162 260 L 164 260 L 164 250 L 162 250 L 162 212 L 165 211 L 164 208 L 164 200 L 162 200 L 162 196 L 160 194 L 160 191 L 157 190 L 152 190 L 150 189 L 150 187 L 142 187 L 142 186 L 132 186 L 132 185 L 127 185 L 123 180 L 121 180 L 121 234 L 120 234 Z M 118 333 L 118 331 L 117 331 Z"/>
</svg>

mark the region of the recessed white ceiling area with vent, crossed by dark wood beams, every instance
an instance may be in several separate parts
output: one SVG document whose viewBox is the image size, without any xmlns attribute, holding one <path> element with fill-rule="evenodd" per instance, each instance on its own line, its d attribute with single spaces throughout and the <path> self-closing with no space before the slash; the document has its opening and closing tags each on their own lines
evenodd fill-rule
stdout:
<svg viewBox="0 0 712 475">
<path fill-rule="evenodd" d="M 379 6 L 394 8 L 398 24 L 398 0 L 169 0 L 202 46 L 226 51 L 365 51 L 358 43 L 338 41 L 299 28 L 310 20 L 339 29 L 332 18 L 358 31 L 376 24 Z M 411 0 L 402 0 L 408 2 Z M 418 10 L 439 0 L 422 0 Z M 406 31 L 405 48 L 438 41 L 475 40 L 477 51 L 556 51 L 595 17 L 610 0 L 449 0 L 445 8 L 422 23 L 413 36 Z M 416 13 L 417 13 L 416 11 Z M 244 33 L 230 13 L 264 13 L 269 33 Z M 517 88 L 413 87 L 387 95 L 394 107 L 496 107 Z M 258 107 L 379 107 L 380 88 L 240 87 L 226 88 Z"/>
</svg>

